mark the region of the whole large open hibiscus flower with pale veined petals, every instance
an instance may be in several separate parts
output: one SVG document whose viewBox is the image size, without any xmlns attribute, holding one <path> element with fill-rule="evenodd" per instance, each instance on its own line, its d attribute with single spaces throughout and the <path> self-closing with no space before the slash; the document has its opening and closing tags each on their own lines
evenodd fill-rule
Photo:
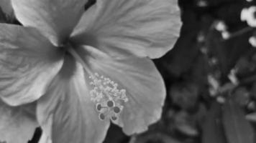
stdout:
<svg viewBox="0 0 256 143">
<path fill-rule="evenodd" d="M 45 142 L 98 143 L 110 122 L 129 135 L 160 119 L 165 85 L 150 58 L 178 38 L 176 1 L 86 2 L 12 0 L 22 26 L 0 24 L 0 139 L 26 142 L 39 124 Z"/>
</svg>

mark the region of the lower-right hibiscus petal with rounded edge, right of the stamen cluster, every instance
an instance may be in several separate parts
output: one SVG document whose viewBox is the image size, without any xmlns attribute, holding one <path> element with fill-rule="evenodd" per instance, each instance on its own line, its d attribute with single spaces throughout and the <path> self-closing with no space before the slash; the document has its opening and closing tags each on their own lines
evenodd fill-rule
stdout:
<svg viewBox="0 0 256 143">
<path fill-rule="evenodd" d="M 129 100 L 123 104 L 120 119 L 114 122 L 123 127 L 126 134 L 143 132 L 160 119 L 166 94 L 165 85 L 150 59 L 112 59 L 91 46 L 76 50 L 91 71 L 110 78 L 120 89 L 126 89 Z"/>
</svg>

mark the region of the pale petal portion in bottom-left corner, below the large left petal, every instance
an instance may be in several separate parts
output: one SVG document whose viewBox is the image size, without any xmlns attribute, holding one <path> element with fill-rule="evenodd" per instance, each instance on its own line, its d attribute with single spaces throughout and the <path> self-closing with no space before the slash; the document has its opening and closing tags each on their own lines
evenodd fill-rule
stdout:
<svg viewBox="0 0 256 143">
<path fill-rule="evenodd" d="M 35 103 L 9 107 L 0 99 L 0 114 L 0 142 L 27 142 L 39 126 L 35 117 Z"/>
</svg>

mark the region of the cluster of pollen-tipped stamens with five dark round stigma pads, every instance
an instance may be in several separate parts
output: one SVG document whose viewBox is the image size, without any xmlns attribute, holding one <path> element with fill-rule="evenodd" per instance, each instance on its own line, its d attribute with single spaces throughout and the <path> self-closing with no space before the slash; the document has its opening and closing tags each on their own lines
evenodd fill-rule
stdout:
<svg viewBox="0 0 256 143">
<path fill-rule="evenodd" d="M 124 109 L 124 103 L 128 102 L 125 89 L 118 89 L 118 84 L 109 78 L 95 73 L 89 77 L 91 79 L 90 91 L 91 101 L 95 103 L 96 112 L 99 119 L 111 119 L 113 122 L 119 118 L 119 114 Z"/>
</svg>

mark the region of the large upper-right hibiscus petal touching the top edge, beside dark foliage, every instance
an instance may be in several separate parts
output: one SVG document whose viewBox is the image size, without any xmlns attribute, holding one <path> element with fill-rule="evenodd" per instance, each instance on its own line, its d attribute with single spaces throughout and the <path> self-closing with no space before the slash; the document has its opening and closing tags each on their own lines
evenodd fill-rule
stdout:
<svg viewBox="0 0 256 143">
<path fill-rule="evenodd" d="M 112 56 L 158 58 L 173 48 L 180 30 L 176 0 L 97 0 L 73 31 L 73 41 Z"/>
</svg>

